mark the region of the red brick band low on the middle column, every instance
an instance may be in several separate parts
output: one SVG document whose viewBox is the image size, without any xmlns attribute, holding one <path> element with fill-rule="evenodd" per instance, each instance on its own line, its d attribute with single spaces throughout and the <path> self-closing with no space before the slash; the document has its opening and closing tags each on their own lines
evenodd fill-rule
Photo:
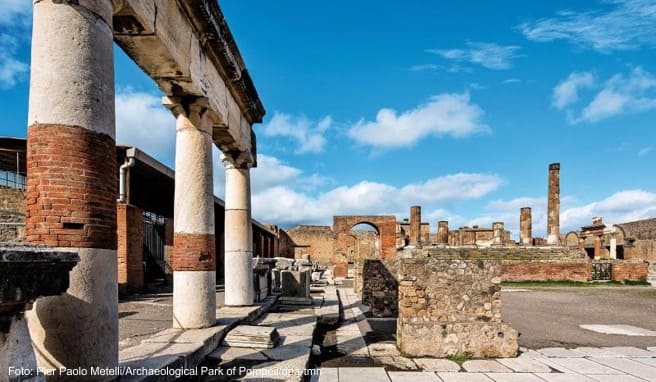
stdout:
<svg viewBox="0 0 656 382">
<path fill-rule="evenodd" d="M 214 235 L 175 233 L 173 236 L 173 270 L 216 270 Z"/>
</svg>

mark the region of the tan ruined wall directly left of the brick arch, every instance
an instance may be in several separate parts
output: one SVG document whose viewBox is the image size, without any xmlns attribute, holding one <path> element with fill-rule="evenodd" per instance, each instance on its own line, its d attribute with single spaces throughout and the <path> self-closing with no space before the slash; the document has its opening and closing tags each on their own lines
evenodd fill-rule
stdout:
<svg viewBox="0 0 656 382">
<path fill-rule="evenodd" d="M 328 226 L 301 225 L 287 231 L 295 245 L 308 246 L 304 248 L 312 261 L 321 264 L 332 264 L 335 252 L 335 238 Z"/>
</svg>

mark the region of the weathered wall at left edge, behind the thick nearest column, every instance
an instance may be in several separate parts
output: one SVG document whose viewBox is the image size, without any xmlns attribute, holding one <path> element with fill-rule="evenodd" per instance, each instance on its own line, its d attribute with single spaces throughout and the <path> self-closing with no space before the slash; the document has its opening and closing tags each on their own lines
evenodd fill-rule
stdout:
<svg viewBox="0 0 656 382">
<path fill-rule="evenodd" d="M 0 186 L 0 242 L 25 240 L 25 191 Z"/>
</svg>

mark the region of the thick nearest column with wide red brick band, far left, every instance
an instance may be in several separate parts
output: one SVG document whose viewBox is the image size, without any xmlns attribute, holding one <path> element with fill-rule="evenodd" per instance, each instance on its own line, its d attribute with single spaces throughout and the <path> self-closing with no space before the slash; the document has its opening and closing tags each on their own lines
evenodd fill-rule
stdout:
<svg viewBox="0 0 656 382">
<path fill-rule="evenodd" d="M 41 367 L 118 363 L 111 0 L 34 1 L 27 241 L 74 249 L 65 295 L 26 314 Z"/>
</svg>

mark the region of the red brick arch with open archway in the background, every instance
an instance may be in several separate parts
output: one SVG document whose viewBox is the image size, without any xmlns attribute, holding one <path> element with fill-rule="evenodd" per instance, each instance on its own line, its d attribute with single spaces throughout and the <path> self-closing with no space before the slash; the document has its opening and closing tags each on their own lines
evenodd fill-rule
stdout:
<svg viewBox="0 0 656 382">
<path fill-rule="evenodd" d="M 351 228 L 358 224 L 368 224 L 376 229 L 380 236 L 381 259 L 396 257 L 396 217 L 395 216 L 334 216 L 333 232 L 335 233 L 335 264 L 334 275 L 346 276 L 348 238 Z"/>
</svg>

